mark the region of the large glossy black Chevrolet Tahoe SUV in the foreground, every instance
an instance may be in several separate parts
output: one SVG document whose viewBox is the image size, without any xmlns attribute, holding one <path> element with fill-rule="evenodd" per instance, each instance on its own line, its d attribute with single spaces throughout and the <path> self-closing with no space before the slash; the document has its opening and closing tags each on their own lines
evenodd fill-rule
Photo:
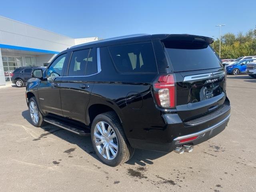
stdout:
<svg viewBox="0 0 256 192">
<path fill-rule="evenodd" d="M 28 81 L 32 124 L 90 134 L 110 166 L 128 161 L 134 148 L 191 152 L 230 118 L 226 73 L 212 42 L 141 34 L 73 46 Z"/>
</svg>

